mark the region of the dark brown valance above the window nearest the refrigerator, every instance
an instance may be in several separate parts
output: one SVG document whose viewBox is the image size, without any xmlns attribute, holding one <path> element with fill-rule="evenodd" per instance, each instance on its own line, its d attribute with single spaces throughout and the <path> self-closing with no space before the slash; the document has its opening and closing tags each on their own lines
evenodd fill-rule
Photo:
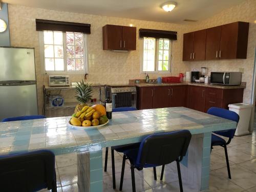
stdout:
<svg viewBox="0 0 256 192">
<path fill-rule="evenodd" d="M 59 22 L 56 20 L 35 19 L 36 31 L 62 31 L 91 34 L 91 24 Z"/>
</svg>

